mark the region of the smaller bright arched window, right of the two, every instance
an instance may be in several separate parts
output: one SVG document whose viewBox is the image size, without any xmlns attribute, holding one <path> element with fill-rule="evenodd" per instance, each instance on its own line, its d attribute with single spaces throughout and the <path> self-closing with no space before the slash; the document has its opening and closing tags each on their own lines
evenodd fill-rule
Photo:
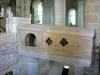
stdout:
<svg viewBox="0 0 100 75">
<path fill-rule="evenodd" d="M 68 11 L 68 25 L 76 25 L 76 10 L 73 8 Z"/>
</svg>

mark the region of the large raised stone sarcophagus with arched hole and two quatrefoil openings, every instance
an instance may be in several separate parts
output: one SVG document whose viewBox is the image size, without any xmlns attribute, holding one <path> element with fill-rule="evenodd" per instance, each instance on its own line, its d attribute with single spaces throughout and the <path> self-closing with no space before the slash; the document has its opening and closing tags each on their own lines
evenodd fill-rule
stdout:
<svg viewBox="0 0 100 75">
<path fill-rule="evenodd" d="M 21 25 L 20 51 L 36 58 L 90 66 L 95 30 L 65 26 Z"/>
</svg>

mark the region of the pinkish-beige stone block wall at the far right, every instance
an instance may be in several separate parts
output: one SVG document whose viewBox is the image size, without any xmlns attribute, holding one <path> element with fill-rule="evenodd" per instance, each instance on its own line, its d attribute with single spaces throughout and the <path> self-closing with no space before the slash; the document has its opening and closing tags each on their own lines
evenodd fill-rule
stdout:
<svg viewBox="0 0 100 75">
<path fill-rule="evenodd" d="M 96 29 L 96 44 L 100 43 L 100 0 L 85 0 L 85 27 Z"/>
</svg>

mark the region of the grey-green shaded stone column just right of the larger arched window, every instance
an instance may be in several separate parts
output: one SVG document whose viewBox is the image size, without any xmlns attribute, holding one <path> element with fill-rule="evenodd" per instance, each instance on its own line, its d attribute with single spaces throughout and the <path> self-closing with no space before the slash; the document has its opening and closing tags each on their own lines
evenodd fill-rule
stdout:
<svg viewBox="0 0 100 75">
<path fill-rule="evenodd" d="M 43 0 L 43 24 L 54 24 L 54 0 Z"/>
</svg>

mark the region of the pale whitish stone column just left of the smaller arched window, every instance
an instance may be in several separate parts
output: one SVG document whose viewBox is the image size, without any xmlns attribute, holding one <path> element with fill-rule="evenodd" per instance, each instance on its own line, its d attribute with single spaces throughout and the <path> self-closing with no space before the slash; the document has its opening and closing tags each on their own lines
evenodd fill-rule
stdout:
<svg viewBox="0 0 100 75">
<path fill-rule="evenodd" d="M 65 25 L 66 0 L 55 0 L 55 25 Z"/>
</svg>

